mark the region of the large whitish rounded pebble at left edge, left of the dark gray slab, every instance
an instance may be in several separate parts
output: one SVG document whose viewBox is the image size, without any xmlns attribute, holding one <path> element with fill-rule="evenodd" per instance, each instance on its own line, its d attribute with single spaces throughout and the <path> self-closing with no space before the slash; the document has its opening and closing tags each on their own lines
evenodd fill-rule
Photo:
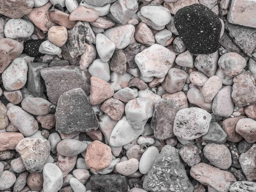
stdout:
<svg viewBox="0 0 256 192">
<path fill-rule="evenodd" d="M 16 58 L 2 73 L 3 86 L 8 91 L 19 90 L 27 81 L 28 66 L 23 58 Z"/>
</svg>

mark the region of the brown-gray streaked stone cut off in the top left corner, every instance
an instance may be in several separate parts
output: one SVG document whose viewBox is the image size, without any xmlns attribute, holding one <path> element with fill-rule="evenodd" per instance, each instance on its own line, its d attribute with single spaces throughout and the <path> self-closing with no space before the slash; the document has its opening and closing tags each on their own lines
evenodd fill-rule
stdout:
<svg viewBox="0 0 256 192">
<path fill-rule="evenodd" d="M 34 6 L 33 0 L 23 1 L 9 1 L 1 0 L 0 1 L 0 13 L 10 18 L 20 18 L 24 15 L 29 14 L 32 11 Z M 2 189 L 1 189 L 2 190 Z"/>
</svg>

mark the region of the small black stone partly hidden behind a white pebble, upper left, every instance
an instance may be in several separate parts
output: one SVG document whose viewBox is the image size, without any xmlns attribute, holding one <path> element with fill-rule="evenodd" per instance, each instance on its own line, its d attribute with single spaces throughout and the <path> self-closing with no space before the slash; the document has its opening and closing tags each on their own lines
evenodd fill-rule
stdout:
<svg viewBox="0 0 256 192">
<path fill-rule="evenodd" d="M 39 47 L 44 40 L 35 39 L 35 40 L 28 40 L 24 42 L 24 52 L 29 55 L 30 57 L 40 57 L 44 54 L 39 52 Z"/>
</svg>

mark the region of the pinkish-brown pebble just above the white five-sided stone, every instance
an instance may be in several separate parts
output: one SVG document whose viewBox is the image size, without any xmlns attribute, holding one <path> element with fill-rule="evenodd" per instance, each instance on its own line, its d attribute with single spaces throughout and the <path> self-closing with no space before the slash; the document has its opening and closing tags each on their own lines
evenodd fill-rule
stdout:
<svg viewBox="0 0 256 192">
<path fill-rule="evenodd" d="M 143 22 L 136 26 L 134 37 L 140 44 L 145 46 L 151 46 L 155 43 L 151 29 Z"/>
</svg>

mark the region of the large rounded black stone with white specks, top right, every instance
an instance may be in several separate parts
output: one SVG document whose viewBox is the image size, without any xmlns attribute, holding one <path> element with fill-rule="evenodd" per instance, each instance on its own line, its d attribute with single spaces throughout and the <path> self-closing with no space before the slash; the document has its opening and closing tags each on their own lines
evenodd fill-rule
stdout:
<svg viewBox="0 0 256 192">
<path fill-rule="evenodd" d="M 179 9 L 175 27 L 189 52 L 209 54 L 218 50 L 221 21 L 208 7 L 193 4 Z"/>
</svg>

